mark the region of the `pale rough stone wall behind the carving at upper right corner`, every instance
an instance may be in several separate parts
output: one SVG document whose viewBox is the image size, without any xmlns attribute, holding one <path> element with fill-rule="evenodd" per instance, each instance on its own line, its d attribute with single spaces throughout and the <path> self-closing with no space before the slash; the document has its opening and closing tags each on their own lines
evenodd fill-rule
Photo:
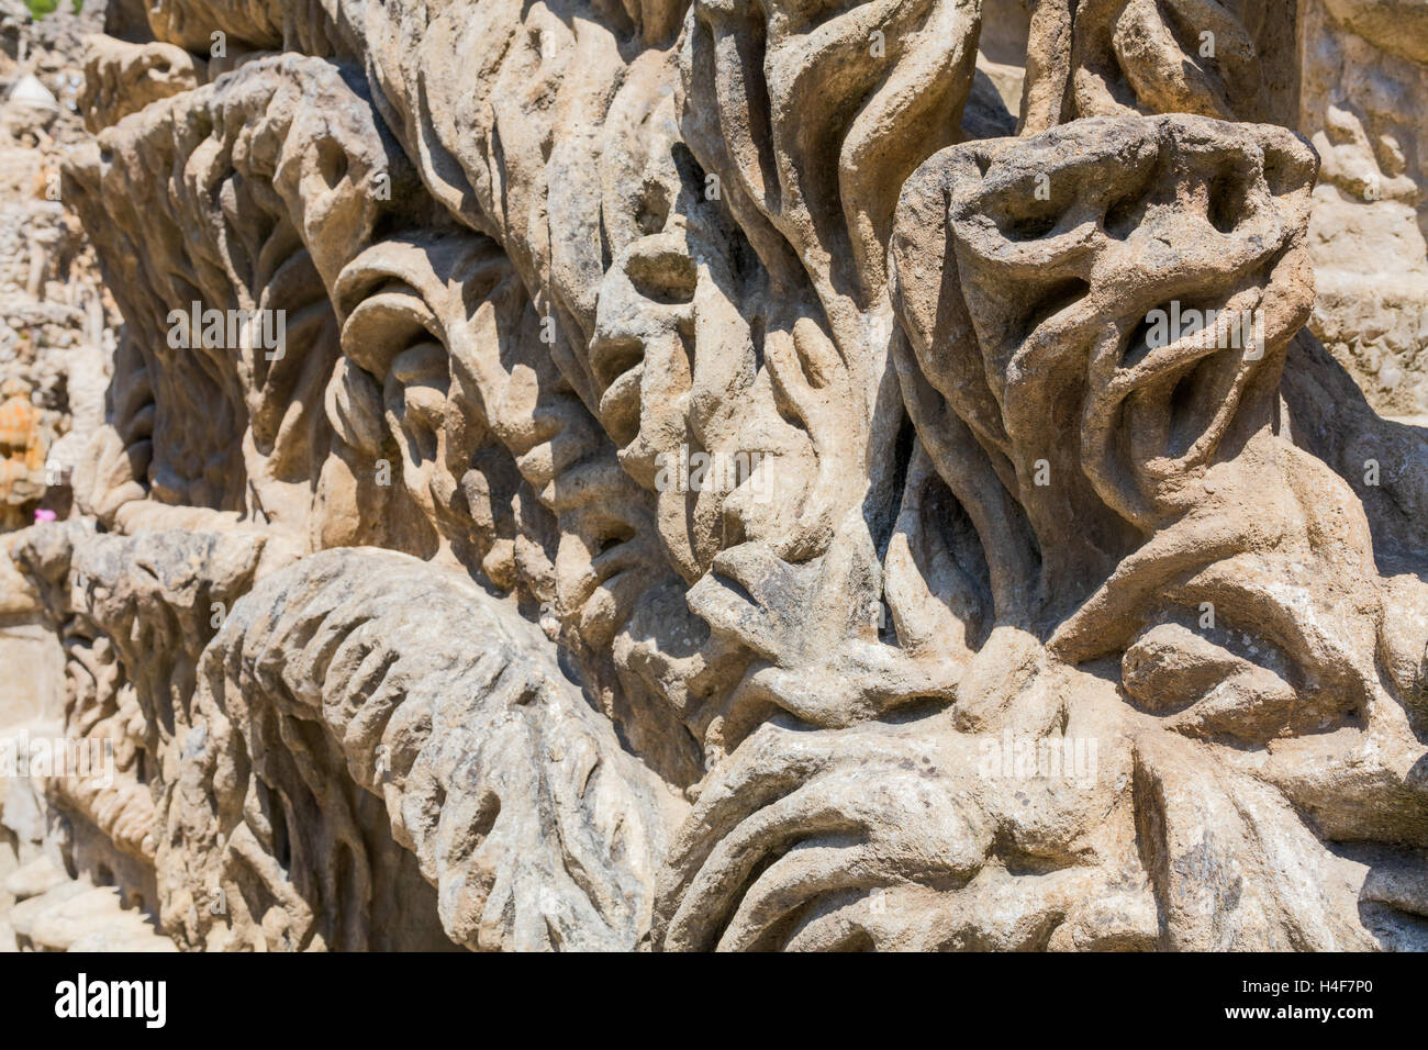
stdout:
<svg viewBox="0 0 1428 1050">
<path fill-rule="evenodd" d="M 1324 157 L 1309 236 L 1312 329 L 1391 416 L 1428 414 L 1425 9 L 1304 4 L 1299 126 Z"/>
</svg>

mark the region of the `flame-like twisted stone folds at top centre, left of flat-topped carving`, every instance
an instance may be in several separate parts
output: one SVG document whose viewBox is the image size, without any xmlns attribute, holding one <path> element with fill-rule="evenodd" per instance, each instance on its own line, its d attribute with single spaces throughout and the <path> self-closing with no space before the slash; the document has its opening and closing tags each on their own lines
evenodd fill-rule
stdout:
<svg viewBox="0 0 1428 1050">
<path fill-rule="evenodd" d="M 695 4 L 685 91 L 714 111 L 687 123 L 690 144 L 730 186 L 775 280 L 790 277 L 763 226 L 793 247 L 830 313 L 841 297 L 875 300 L 892 187 L 957 136 L 980 10 Z"/>
</svg>

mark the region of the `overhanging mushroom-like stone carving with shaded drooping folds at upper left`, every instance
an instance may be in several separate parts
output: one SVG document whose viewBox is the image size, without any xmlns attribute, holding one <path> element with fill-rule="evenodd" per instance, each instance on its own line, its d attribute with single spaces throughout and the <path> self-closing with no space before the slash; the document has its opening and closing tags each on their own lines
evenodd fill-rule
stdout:
<svg viewBox="0 0 1428 1050">
<path fill-rule="evenodd" d="M 293 56 L 150 106 L 101 141 L 70 166 L 66 196 L 116 249 L 106 266 L 144 364 L 120 377 L 116 416 L 134 433 L 106 434 L 106 483 L 300 531 L 330 443 L 327 289 L 406 169 L 341 70 Z M 141 397 L 151 411 L 129 404 Z"/>
</svg>

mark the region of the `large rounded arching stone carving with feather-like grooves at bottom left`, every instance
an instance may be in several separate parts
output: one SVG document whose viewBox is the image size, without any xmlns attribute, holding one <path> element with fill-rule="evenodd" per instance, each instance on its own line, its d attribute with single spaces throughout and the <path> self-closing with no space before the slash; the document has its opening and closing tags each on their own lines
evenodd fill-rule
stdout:
<svg viewBox="0 0 1428 1050">
<path fill-rule="evenodd" d="M 533 624 L 396 553 L 327 551 L 234 606 L 200 667 L 171 854 L 180 904 L 221 886 L 208 946 L 360 947 L 383 873 L 370 806 L 473 949 L 630 949 L 678 801 L 564 680 Z M 388 856 L 386 859 L 391 861 Z M 274 917 L 300 901 L 310 924 Z M 371 926 L 368 926 L 371 923 Z M 286 939 L 286 940 L 284 940 Z"/>
</svg>

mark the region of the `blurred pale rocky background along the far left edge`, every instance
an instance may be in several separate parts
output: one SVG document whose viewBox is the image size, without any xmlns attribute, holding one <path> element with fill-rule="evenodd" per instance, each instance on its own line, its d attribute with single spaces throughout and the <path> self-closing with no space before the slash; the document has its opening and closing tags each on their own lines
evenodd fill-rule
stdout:
<svg viewBox="0 0 1428 1050">
<path fill-rule="evenodd" d="M 89 137 L 79 109 L 84 37 L 104 29 L 104 4 L 31 4 L 0 0 L 3 533 L 70 514 L 70 474 L 103 420 L 119 327 L 93 247 L 60 194 L 61 159 Z M 61 646 L 40 626 L 36 596 L 9 559 L 0 564 L 0 726 L 7 736 L 59 734 Z M 151 927 L 121 907 L 114 887 L 71 877 L 47 849 L 39 780 L 0 779 L 0 951 L 69 947 L 83 933 L 96 934 L 90 947 L 150 943 Z M 24 929 L 19 937 L 14 923 Z"/>
</svg>

